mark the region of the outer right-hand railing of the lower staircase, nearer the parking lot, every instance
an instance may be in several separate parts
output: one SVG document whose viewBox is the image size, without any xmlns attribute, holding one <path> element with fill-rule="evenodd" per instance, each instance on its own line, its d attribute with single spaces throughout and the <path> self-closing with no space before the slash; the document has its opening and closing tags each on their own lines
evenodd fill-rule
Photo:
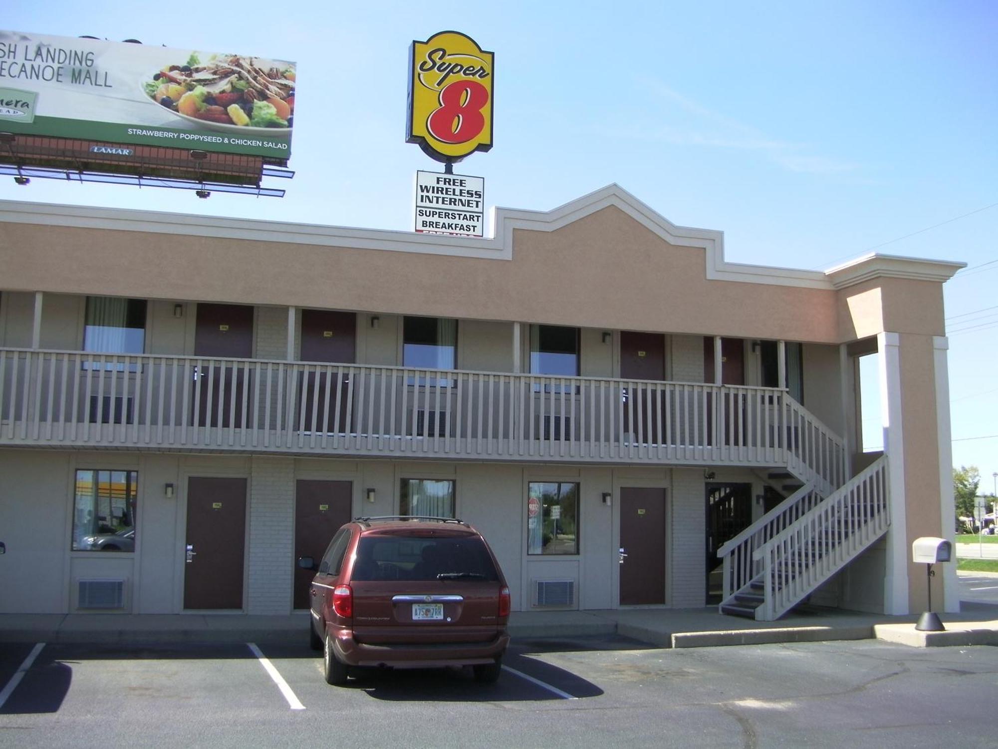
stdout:
<svg viewBox="0 0 998 749">
<path fill-rule="evenodd" d="M 771 621 L 882 536 L 890 525 L 887 456 L 856 474 L 752 554 L 762 564 L 755 618 Z"/>
</svg>

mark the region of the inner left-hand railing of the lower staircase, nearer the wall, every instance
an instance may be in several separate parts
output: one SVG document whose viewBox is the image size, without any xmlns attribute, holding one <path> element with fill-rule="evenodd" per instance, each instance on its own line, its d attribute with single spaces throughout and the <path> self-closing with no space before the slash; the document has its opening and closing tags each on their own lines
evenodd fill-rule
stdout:
<svg viewBox="0 0 998 749">
<path fill-rule="evenodd" d="M 728 603 L 736 592 L 748 586 L 752 578 L 761 571 L 761 561 L 752 558 L 755 550 L 823 499 L 814 490 L 814 481 L 809 481 L 718 549 L 718 556 L 724 562 L 722 605 Z"/>
</svg>

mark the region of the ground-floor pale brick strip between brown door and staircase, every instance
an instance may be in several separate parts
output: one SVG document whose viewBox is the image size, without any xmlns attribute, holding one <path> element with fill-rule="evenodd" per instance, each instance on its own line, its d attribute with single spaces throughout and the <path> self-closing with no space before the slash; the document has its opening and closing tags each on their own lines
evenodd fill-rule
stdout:
<svg viewBox="0 0 998 749">
<path fill-rule="evenodd" d="M 707 597 L 707 501 L 702 468 L 673 471 L 672 601 L 676 607 L 703 606 Z"/>
</svg>

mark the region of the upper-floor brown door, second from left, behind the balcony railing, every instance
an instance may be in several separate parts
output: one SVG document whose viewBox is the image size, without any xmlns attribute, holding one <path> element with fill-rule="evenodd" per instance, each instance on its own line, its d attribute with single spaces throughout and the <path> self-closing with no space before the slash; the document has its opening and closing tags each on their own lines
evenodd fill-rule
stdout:
<svg viewBox="0 0 998 749">
<path fill-rule="evenodd" d="M 301 361 L 351 365 L 355 361 L 357 316 L 332 310 L 301 311 Z M 304 407 L 304 431 L 346 431 L 347 375 L 301 373 L 299 407 Z M 339 418 L 336 418 L 339 400 Z M 300 412 L 300 411 L 299 411 Z M 314 413 L 314 428 L 312 417 Z M 337 427 L 338 424 L 338 427 Z"/>
</svg>

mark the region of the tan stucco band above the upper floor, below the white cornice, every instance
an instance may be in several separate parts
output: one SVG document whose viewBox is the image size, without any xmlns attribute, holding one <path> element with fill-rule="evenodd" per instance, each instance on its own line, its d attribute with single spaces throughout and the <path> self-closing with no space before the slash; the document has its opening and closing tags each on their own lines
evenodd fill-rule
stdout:
<svg viewBox="0 0 998 749">
<path fill-rule="evenodd" d="M 27 224 L 6 232 L 0 265 L 12 269 L 4 286 L 15 291 L 793 341 L 838 336 L 834 292 L 767 286 L 760 294 L 753 284 L 708 281 L 704 250 L 669 245 L 615 207 L 550 233 L 516 230 L 513 262 Z"/>
</svg>

